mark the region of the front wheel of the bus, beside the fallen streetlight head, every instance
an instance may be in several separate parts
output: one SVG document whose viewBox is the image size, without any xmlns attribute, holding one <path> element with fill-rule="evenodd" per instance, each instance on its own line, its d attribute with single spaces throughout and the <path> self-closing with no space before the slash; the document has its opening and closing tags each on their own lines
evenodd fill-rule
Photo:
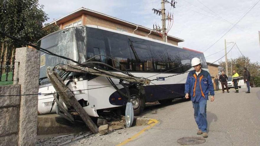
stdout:
<svg viewBox="0 0 260 146">
<path fill-rule="evenodd" d="M 130 97 L 137 97 L 138 94 L 139 91 L 137 89 L 130 89 Z M 134 115 L 135 116 L 140 115 L 145 107 L 144 97 L 140 95 L 138 98 L 131 99 L 131 102 L 133 104 Z"/>
</svg>

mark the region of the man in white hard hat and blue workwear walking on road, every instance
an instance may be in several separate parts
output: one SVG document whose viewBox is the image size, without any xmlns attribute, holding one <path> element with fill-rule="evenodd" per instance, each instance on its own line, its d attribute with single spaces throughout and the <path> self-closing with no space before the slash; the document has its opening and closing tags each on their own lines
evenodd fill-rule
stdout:
<svg viewBox="0 0 260 146">
<path fill-rule="evenodd" d="M 208 137 L 206 108 L 207 100 L 209 100 L 209 92 L 211 95 L 210 101 L 214 101 L 214 87 L 209 72 L 201 69 L 202 66 L 199 58 L 193 58 L 191 60 L 191 66 L 194 70 L 189 72 L 185 83 L 185 98 L 188 99 L 189 95 L 191 96 L 194 108 L 194 118 L 199 128 L 197 134 L 202 134 L 203 137 Z"/>
</svg>

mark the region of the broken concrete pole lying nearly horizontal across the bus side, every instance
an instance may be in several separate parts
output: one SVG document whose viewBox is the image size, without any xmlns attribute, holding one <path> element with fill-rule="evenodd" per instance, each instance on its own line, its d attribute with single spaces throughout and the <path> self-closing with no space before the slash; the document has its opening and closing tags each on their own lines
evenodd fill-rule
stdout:
<svg viewBox="0 0 260 146">
<path fill-rule="evenodd" d="M 68 71 L 68 72 L 76 72 L 76 73 L 90 73 L 93 75 L 98 75 L 98 76 L 105 76 L 105 77 L 109 77 L 109 78 L 117 78 L 117 79 L 123 79 L 125 81 L 128 82 L 137 82 L 137 83 L 141 83 L 141 84 L 146 84 L 149 85 L 150 84 L 150 80 L 145 80 L 145 79 L 140 79 L 140 78 L 136 78 L 136 77 L 131 77 L 131 76 L 126 76 L 126 75 L 122 75 L 119 73 L 112 73 L 109 71 L 105 71 L 105 70 L 94 70 L 92 68 L 88 68 L 88 67 L 80 67 L 78 65 L 57 65 L 56 68 L 58 70 L 63 70 L 63 71 Z"/>
</svg>

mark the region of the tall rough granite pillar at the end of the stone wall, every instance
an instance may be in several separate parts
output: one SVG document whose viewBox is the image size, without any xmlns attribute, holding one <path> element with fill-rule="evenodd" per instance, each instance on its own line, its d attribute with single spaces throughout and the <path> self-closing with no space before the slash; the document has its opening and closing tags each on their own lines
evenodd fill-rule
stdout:
<svg viewBox="0 0 260 146">
<path fill-rule="evenodd" d="M 40 73 L 40 52 L 22 47 L 15 52 L 15 78 L 21 85 L 21 94 L 38 94 Z M 19 110 L 18 145 L 31 146 L 36 144 L 38 95 L 21 96 Z"/>
</svg>

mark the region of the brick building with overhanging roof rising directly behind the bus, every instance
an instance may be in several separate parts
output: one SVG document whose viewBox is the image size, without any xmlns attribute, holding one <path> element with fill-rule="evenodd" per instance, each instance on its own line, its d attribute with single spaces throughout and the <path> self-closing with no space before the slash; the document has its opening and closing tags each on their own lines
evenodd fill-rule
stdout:
<svg viewBox="0 0 260 146">
<path fill-rule="evenodd" d="M 162 40 L 162 37 L 160 37 L 160 35 L 152 29 L 83 7 L 51 22 L 50 24 L 56 24 L 60 27 L 60 29 L 90 24 L 122 32 L 129 32 L 156 40 Z M 168 43 L 173 45 L 178 45 L 179 42 L 184 41 L 183 39 L 170 35 L 167 35 L 167 40 Z"/>
</svg>

